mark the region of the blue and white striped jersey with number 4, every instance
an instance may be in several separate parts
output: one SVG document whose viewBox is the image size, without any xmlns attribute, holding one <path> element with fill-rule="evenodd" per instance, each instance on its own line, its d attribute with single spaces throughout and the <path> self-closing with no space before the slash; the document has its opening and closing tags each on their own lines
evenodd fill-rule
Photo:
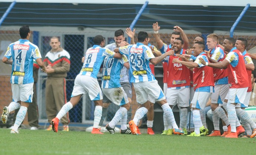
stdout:
<svg viewBox="0 0 256 155">
<path fill-rule="evenodd" d="M 7 48 L 6 58 L 13 58 L 12 84 L 27 84 L 34 82 L 33 60 L 42 58 L 39 48 L 27 39 L 19 39 Z"/>
</svg>

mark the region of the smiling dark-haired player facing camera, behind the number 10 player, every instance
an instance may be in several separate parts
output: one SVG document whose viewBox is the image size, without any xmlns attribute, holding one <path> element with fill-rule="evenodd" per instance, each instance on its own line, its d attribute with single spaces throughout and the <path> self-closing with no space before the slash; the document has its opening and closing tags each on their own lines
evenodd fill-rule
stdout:
<svg viewBox="0 0 256 155">
<path fill-rule="evenodd" d="M 134 44 L 132 35 L 134 36 L 135 30 L 131 31 L 130 28 L 127 28 L 126 34 L 128 34 L 128 36 L 131 37 L 131 44 Z M 121 42 L 125 41 L 124 31 L 121 29 L 116 30 L 114 40 L 115 40 L 114 43 L 106 45 L 105 48 L 108 48 L 111 51 L 114 51 L 115 48 L 118 48 L 119 45 L 121 44 Z M 120 73 L 120 84 L 123 87 L 125 93 L 127 94 L 129 104 L 131 107 L 132 89 L 131 89 L 131 85 L 129 83 L 128 70 L 125 67 L 122 68 L 121 73 Z M 101 121 L 99 123 L 100 126 L 103 124 L 103 121 L 107 115 L 107 108 L 109 105 L 110 105 L 110 100 L 108 100 L 107 97 L 105 97 L 105 94 L 103 94 L 102 117 L 101 117 Z M 130 110 L 128 110 L 127 114 L 128 114 L 127 119 L 130 121 L 131 120 L 131 108 L 130 108 Z"/>
</svg>

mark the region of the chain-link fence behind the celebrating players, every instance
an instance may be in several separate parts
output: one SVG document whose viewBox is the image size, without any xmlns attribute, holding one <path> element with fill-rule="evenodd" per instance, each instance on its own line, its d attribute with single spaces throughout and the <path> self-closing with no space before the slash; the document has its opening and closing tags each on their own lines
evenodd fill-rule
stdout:
<svg viewBox="0 0 256 155">
<path fill-rule="evenodd" d="M 117 29 L 116 29 L 117 30 Z M 93 37 L 95 35 L 102 35 L 105 38 L 105 44 L 111 44 L 114 42 L 114 31 L 103 31 L 103 30 L 95 30 L 95 31 L 86 31 L 86 32 L 68 32 L 62 31 L 60 28 L 59 31 L 32 31 L 32 35 L 30 41 L 36 44 L 41 52 L 42 59 L 45 58 L 46 53 L 50 50 L 50 38 L 53 36 L 60 38 L 61 47 L 63 47 L 70 54 L 70 71 L 68 72 L 68 76 L 66 78 L 66 93 L 67 100 L 70 100 L 70 96 L 73 90 L 74 80 L 76 75 L 79 73 L 82 63 L 81 58 L 85 54 L 86 50 L 93 45 Z M 156 45 L 155 39 L 151 31 L 149 32 L 150 42 L 152 45 Z M 171 31 L 170 31 L 171 32 Z M 192 48 L 193 40 L 197 36 L 202 34 L 187 34 L 189 41 L 189 48 Z M 227 34 L 219 34 L 220 35 L 220 44 L 222 44 L 224 38 L 229 37 Z M 207 34 L 203 34 L 203 36 L 207 36 Z M 125 36 L 127 38 L 127 36 Z M 255 47 L 256 41 L 254 36 L 234 36 L 234 38 L 246 38 L 248 40 L 248 47 Z M 0 28 L 0 54 L 1 58 L 3 58 L 7 46 L 20 39 L 18 30 L 8 30 L 7 28 Z M 170 44 L 170 34 L 161 34 L 161 39 L 164 43 Z M 136 40 L 136 39 L 135 39 Z M 3 109 L 4 106 L 9 105 L 12 100 L 12 91 L 10 85 L 10 72 L 12 66 L 5 65 L 1 62 L 0 65 L 0 110 Z M 161 63 L 155 68 L 156 78 L 160 86 L 163 86 L 163 68 L 161 67 Z M 39 121 L 47 122 L 46 116 L 46 107 L 45 107 L 45 82 L 47 79 L 46 73 L 39 72 L 39 80 L 37 82 L 37 104 L 39 106 Z M 98 81 L 101 83 L 101 73 L 98 74 Z M 133 97 L 132 100 L 132 114 L 134 114 L 138 104 Z M 83 99 L 79 102 L 77 106 L 72 108 L 69 111 L 70 122 L 72 123 L 92 123 L 93 121 L 93 111 L 94 111 L 94 103 L 89 99 L 88 96 L 84 96 Z M 114 117 L 115 112 L 118 110 L 119 106 L 115 104 L 111 104 L 108 108 L 108 115 L 105 121 L 111 121 L 112 117 Z"/>
</svg>

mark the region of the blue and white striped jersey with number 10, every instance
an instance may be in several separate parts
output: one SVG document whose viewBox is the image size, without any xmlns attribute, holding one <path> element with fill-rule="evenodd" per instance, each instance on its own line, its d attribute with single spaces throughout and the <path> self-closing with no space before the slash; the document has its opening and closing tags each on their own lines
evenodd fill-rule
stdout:
<svg viewBox="0 0 256 155">
<path fill-rule="evenodd" d="M 101 88 L 121 87 L 120 73 L 125 62 L 128 62 L 125 55 L 122 56 L 122 59 L 105 58 L 103 62 Z"/>
</svg>

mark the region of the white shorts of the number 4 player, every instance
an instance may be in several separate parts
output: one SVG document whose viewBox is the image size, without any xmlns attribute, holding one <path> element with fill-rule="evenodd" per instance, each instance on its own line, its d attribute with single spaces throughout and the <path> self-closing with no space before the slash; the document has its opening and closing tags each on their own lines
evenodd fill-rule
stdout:
<svg viewBox="0 0 256 155">
<path fill-rule="evenodd" d="M 28 84 L 12 84 L 13 101 L 32 102 L 34 82 Z"/>
</svg>

